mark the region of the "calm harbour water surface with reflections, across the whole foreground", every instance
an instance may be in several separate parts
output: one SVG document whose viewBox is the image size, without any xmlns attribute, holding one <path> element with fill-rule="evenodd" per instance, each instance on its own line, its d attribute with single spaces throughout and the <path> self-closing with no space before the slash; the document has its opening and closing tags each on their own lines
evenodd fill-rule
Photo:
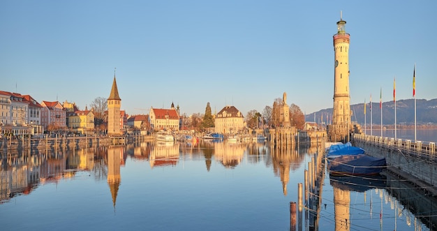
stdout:
<svg viewBox="0 0 437 231">
<path fill-rule="evenodd" d="M 291 230 L 289 203 L 297 202 L 297 186 L 318 149 L 200 142 L 3 154 L 0 227 Z M 322 182 L 313 219 L 318 230 L 436 228 L 429 214 L 437 214 L 437 202 L 390 175 L 324 174 Z M 297 221 L 296 230 L 308 230 L 310 217 Z"/>
</svg>

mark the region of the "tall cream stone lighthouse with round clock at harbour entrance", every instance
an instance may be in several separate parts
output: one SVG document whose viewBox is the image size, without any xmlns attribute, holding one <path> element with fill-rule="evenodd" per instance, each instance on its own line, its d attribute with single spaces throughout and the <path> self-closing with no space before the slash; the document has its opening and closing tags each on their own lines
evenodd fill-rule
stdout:
<svg viewBox="0 0 437 231">
<path fill-rule="evenodd" d="M 337 22 L 334 34 L 334 110 L 328 137 L 332 142 L 348 140 L 350 131 L 349 38 L 346 21 Z"/>
</svg>

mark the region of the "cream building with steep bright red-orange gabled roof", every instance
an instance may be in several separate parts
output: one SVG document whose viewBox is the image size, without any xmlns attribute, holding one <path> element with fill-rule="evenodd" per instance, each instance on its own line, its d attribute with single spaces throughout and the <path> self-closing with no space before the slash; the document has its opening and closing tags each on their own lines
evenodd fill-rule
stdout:
<svg viewBox="0 0 437 231">
<path fill-rule="evenodd" d="M 154 129 L 155 131 L 179 131 L 179 114 L 173 103 L 170 109 L 151 107 L 149 119 L 151 129 Z"/>
</svg>

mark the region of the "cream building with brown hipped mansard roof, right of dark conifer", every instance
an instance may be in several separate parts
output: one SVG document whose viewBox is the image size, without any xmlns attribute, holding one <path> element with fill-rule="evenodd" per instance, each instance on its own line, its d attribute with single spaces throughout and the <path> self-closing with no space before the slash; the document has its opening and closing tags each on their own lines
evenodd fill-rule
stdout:
<svg viewBox="0 0 437 231">
<path fill-rule="evenodd" d="M 217 113 L 214 122 L 216 133 L 232 134 L 244 131 L 244 116 L 237 107 L 225 106 Z"/>
</svg>

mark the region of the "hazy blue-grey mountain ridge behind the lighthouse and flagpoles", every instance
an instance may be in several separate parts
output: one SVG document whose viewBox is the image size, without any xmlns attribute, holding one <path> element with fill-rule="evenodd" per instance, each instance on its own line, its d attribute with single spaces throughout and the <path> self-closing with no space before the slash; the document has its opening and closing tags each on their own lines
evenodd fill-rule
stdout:
<svg viewBox="0 0 437 231">
<path fill-rule="evenodd" d="M 416 121 L 417 124 L 437 124 L 437 98 L 431 100 L 416 99 Z M 351 105 L 351 121 L 364 124 L 364 103 Z M 372 111 L 372 112 L 371 112 Z M 381 110 L 379 102 L 372 102 L 372 110 L 369 103 L 366 103 L 366 124 L 370 124 L 372 113 L 373 124 L 381 123 Z M 332 107 L 305 116 L 306 121 L 314 121 L 326 124 L 331 123 Z M 396 120 L 397 124 L 414 124 L 414 99 L 396 101 Z M 394 124 L 394 102 L 383 102 L 383 124 Z"/>
</svg>

